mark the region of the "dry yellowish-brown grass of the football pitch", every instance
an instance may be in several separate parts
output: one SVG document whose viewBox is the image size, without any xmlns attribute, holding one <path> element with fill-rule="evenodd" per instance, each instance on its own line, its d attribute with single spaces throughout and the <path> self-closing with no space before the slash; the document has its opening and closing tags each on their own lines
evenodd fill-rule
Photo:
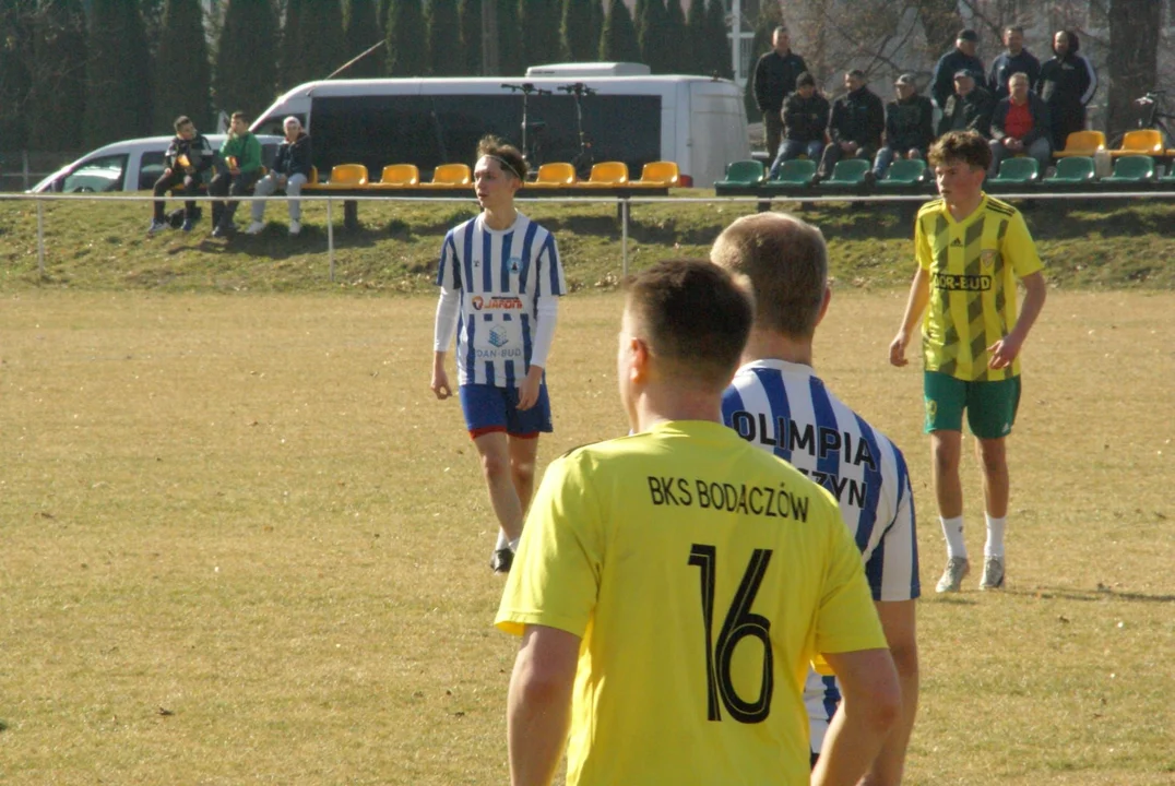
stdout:
<svg viewBox="0 0 1175 786">
<path fill-rule="evenodd" d="M 268 275 L 216 262 L 176 294 L 92 254 L 46 285 L 26 251 L 0 289 L 0 782 L 506 782 L 516 644 L 490 627 L 492 515 L 458 407 L 428 390 L 432 298 L 207 294 Z M 817 367 L 914 478 L 907 782 L 1175 784 L 1175 294 L 1050 294 L 1008 589 L 946 598 L 920 378 L 885 362 L 902 304 L 841 283 Z M 566 298 L 544 463 L 626 428 L 619 308 Z M 969 446 L 964 472 L 978 551 Z"/>
</svg>

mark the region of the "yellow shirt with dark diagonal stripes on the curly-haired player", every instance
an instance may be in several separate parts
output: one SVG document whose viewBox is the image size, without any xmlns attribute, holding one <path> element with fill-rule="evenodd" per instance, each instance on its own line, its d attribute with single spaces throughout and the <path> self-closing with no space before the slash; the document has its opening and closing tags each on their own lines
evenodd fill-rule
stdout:
<svg viewBox="0 0 1175 786">
<path fill-rule="evenodd" d="M 914 247 L 919 267 L 931 275 L 922 320 L 926 370 L 967 382 L 1019 375 L 1019 358 L 1003 369 L 987 368 L 987 348 L 1016 324 L 1016 278 L 1043 267 L 1020 211 L 985 194 L 974 213 L 955 221 L 944 200 L 933 200 L 918 211 Z"/>
</svg>

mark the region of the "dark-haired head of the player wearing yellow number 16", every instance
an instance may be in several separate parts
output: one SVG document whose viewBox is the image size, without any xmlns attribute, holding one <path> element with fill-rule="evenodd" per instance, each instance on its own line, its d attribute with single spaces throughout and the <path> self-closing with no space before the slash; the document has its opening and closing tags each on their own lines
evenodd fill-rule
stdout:
<svg viewBox="0 0 1175 786">
<path fill-rule="evenodd" d="M 751 332 L 751 297 L 705 260 L 667 260 L 631 276 L 625 309 L 666 374 L 720 392 Z"/>
</svg>

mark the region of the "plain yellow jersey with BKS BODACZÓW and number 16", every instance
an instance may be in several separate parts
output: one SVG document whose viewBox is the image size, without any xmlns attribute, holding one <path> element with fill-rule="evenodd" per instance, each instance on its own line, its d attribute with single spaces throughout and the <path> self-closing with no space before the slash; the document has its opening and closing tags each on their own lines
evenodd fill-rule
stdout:
<svg viewBox="0 0 1175 786">
<path fill-rule="evenodd" d="M 886 646 L 832 495 L 699 421 L 552 462 L 496 623 L 580 637 L 569 786 L 807 784 L 808 663 Z"/>
</svg>

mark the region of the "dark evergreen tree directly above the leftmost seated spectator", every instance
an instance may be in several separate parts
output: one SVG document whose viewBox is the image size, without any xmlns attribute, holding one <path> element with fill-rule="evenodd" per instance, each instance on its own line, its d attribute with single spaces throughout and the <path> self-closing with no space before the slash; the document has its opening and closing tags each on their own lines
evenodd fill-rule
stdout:
<svg viewBox="0 0 1175 786">
<path fill-rule="evenodd" d="M 212 128 L 212 66 L 200 0 L 167 0 L 155 68 L 152 128 L 167 133 L 180 115 Z"/>
</svg>

